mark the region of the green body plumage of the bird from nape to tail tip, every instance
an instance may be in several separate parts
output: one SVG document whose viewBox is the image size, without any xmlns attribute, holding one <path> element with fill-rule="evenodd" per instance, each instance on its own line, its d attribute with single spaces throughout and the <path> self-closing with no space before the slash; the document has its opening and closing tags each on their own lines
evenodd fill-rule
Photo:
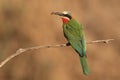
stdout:
<svg viewBox="0 0 120 80">
<path fill-rule="evenodd" d="M 63 24 L 63 32 L 72 48 L 80 56 L 83 74 L 89 74 L 90 69 L 86 60 L 86 42 L 82 25 L 76 20 L 70 19 L 69 22 Z"/>
</svg>

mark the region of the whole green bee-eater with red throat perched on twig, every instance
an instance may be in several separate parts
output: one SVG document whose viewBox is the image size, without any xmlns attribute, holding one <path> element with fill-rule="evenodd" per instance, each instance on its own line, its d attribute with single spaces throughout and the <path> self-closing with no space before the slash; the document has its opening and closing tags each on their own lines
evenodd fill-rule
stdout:
<svg viewBox="0 0 120 80">
<path fill-rule="evenodd" d="M 64 36 L 68 44 L 78 53 L 83 74 L 90 74 L 86 56 L 86 40 L 82 24 L 75 20 L 69 11 L 52 12 L 51 15 L 58 15 L 61 17 Z"/>
</svg>

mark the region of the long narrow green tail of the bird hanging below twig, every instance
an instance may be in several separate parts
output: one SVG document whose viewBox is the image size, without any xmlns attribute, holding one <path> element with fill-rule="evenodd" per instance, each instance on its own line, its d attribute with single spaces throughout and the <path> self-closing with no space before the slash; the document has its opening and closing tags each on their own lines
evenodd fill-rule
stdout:
<svg viewBox="0 0 120 80">
<path fill-rule="evenodd" d="M 85 74 L 85 75 L 90 74 L 90 68 L 88 66 L 86 56 L 80 57 L 80 61 L 81 61 L 81 66 L 82 66 L 83 74 Z"/>
</svg>

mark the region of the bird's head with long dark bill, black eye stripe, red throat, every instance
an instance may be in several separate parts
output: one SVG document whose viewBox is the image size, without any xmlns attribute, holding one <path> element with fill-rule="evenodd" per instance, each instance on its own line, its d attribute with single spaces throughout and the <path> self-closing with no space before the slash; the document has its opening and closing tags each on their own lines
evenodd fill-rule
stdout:
<svg viewBox="0 0 120 80">
<path fill-rule="evenodd" d="M 68 12 L 68 11 L 52 12 L 51 14 L 61 16 L 63 23 L 67 23 L 72 19 L 72 16 L 71 16 L 70 12 Z"/>
</svg>

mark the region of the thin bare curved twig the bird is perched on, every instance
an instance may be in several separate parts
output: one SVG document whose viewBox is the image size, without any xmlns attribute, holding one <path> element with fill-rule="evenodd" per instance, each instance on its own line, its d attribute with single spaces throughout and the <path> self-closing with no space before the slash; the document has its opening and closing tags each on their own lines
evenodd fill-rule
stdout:
<svg viewBox="0 0 120 80">
<path fill-rule="evenodd" d="M 87 42 L 87 44 L 94 44 L 94 43 L 106 43 L 108 44 L 109 41 L 112 41 L 114 39 L 106 39 L 106 40 L 95 40 L 95 41 L 89 41 Z M 7 57 L 4 61 L 2 61 L 0 63 L 0 68 L 3 67 L 8 61 L 10 61 L 12 58 L 26 52 L 26 51 L 30 51 L 30 50 L 38 50 L 41 48 L 57 48 L 57 47 L 66 47 L 66 46 L 70 46 L 68 44 L 57 44 L 57 45 L 45 45 L 45 46 L 35 46 L 35 47 L 29 47 L 29 48 L 20 48 L 18 49 L 14 54 L 12 54 L 11 56 Z"/>
</svg>

